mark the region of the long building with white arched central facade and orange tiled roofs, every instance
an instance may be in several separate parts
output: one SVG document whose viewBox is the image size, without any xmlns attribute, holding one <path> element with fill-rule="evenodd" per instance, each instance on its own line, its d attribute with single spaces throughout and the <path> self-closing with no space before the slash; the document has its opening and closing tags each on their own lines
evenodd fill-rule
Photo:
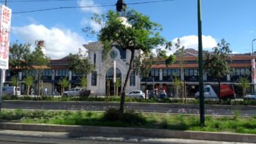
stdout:
<svg viewBox="0 0 256 144">
<path fill-rule="evenodd" d="M 94 91 L 94 95 L 114 95 L 121 94 L 121 88 L 124 86 L 124 80 L 129 68 L 129 60 L 131 53 L 129 50 L 122 50 L 118 45 L 113 45 L 108 55 L 105 55 L 102 51 L 102 45 L 100 42 L 90 42 L 87 45 L 83 45 L 89 53 L 89 61 L 94 64 L 95 70 L 87 76 L 88 89 Z M 140 54 L 140 50 L 135 52 L 135 56 Z M 252 86 L 252 56 L 249 54 L 233 54 L 231 56 L 232 61 L 229 62 L 229 66 L 232 68 L 230 75 L 222 77 L 221 83 L 233 84 L 235 86 L 237 96 L 241 96 L 241 87 L 238 86 L 241 77 L 247 77 L 249 83 Z M 127 92 L 132 90 L 151 90 L 157 88 L 167 92 L 168 96 L 173 95 L 173 80 L 175 77 L 182 80 L 186 84 L 187 95 L 194 96 L 198 91 L 198 64 L 197 64 L 197 50 L 187 49 L 186 53 L 182 56 L 183 61 L 176 61 L 175 64 L 166 65 L 165 61 L 156 60 L 152 66 L 149 77 L 143 75 L 136 75 L 135 71 L 129 77 L 127 83 Z M 48 92 L 51 94 L 53 91 L 60 92 L 59 80 L 67 77 L 69 80 L 69 88 L 80 86 L 81 76 L 72 72 L 68 68 L 69 61 L 65 58 L 58 60 L 50 60 L 48 67 L 42 72 L 43 89 L 48 88 Z M 181 68 L 182 67 L 182 68 Z M 116 80 L 120 80 L 121 86 L 114 86 L 113 76 L 116 72 Z M 20 87 L 23 93 L 26 89 L 23 83 L 23 78 L 26 77 L 25 72 L 20 72 L 19 80 Z M 34 76 L 37 83 L 38 77 L 36 72 L 31 69 L 29 75 Z M 174 76 L 175 75 L 175 76 Z M 7 70 L 6 80 L 4 85 L 10 85 L 10 79 L 12 72 Z M 217 83 L 217 79 L 207 74 L 203 76 L 204 83 L 214 84 Z M 247 89 L 247 93 L 252 93 L 252 88 Z"/>
</svg>

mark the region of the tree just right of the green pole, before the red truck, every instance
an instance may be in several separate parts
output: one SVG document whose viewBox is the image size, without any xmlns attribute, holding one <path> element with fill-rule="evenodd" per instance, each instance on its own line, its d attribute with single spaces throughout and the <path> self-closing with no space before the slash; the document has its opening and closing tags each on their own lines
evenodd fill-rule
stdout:
<svg viewBox="0 0 256 144">
<path fill-rule="evenodd" d="M 229 43 L 226 43 L 225 39 L 222 39 L 217 47 L 213 48 L 212 53 L 206 53 L 206 60 L 204 64 L 204 69 L 211 75 L 211 77 L 216 77 L 219 84 L 219 102 L 221 102 L 220 97 L 220 79 L 225 77 L 230 73 L 230 67 L 227 61 L 230 60 L 230 53 L 232 52 L 229 48 Z"/>
</svg>

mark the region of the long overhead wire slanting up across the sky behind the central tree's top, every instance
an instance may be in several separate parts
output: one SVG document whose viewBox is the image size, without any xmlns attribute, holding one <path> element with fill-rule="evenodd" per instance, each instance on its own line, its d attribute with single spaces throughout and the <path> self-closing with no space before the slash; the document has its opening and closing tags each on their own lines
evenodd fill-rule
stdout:
<svg viewBox="0 0 256 144">
<path fill-rule="evenodd" d="M 144 1 L 144 2 L 134 2 L 128 3 L 127 5 L 135 5 L 135 4 L 150 4 L 150 3 L 159 3 L 159 2 L 166 2 L 166 1 L 174 1 L 174 0 L 160 0 L 160 1 Z M 105 4 L 105 5 L 94 5 L 94 6 L 81 6 L 81 7 L 53 7 L 41 10 L 28 10 L 23 12 L 12 12 L 12 14 L 18 13 L 29 13 L 29 12 L 43 12 L 43 11 L 50 11 L 50 10 L 61 10 L 61 9 L 78 9 L 78 8 L 93 8 L 93 7 L 112 7 L 116 6 L 116 4 Z"/>
</svg>

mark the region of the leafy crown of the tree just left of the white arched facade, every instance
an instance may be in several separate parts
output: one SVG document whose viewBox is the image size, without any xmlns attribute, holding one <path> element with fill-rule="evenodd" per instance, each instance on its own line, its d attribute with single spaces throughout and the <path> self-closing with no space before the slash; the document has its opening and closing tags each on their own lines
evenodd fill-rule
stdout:
<svg viewBox="0 0 256 144">
<path fill-rule="evenodd" d="M 67 59 L 69 60 L 69 69 L 82 77 L 86 77 L 86 75 L 94 70 L 94 64 L 90 63 L 86 54 L 83 54 L 80 48 L 76 54 L 69 53 Z"/>
</svg>

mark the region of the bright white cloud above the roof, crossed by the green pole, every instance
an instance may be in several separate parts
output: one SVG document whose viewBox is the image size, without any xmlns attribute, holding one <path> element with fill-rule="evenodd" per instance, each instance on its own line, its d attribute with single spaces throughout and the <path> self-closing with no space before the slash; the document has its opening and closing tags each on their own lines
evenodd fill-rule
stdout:
<svg viewBox="0 0 256 144">
<path fill-rule="evenodd" d="M 214 48 L 217 46 L 217 41 L 211 36 L 202 36 L 203 39 L 203 49 L 205 50 L 211 50 L 211 48 Z M 176 52 L 176 46 L 175 44 L 177 43 L 178 37 L 172 40 L 173 46 L 171 47 L 171 50 L 167 50 L 167 55 L 170 55 L 171 53 Z M 195 35 L 189 35 L 189 36 L 184 36 L 184 37 L 179 37 L 179 40 L 181 42 L 181 47 L 184 46 L 185 49 L 187 48 L 193 48 L 195 50 L 198 50 L 198 37 Z M 162 49 L 165 49 L 165 47 L 159 47 Z M 156 50 L 153 50 L 153 53 Z"/>
</svg>

